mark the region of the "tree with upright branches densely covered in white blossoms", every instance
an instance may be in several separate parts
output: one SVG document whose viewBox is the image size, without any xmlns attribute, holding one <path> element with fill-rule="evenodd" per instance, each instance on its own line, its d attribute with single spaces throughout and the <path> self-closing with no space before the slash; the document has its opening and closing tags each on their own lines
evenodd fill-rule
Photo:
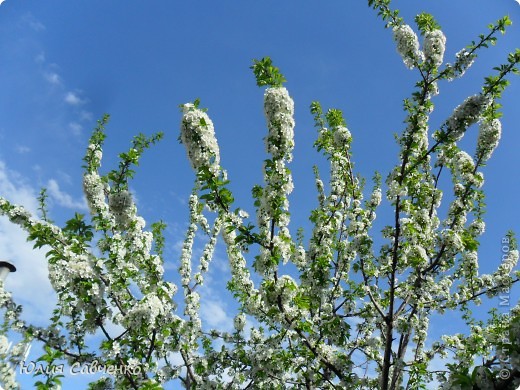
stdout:
<svg viewBox="0 0 520 390">
<path fill-rule="evenodd" d="M 496 67 L 481 93 L 457 106 L 431 139 L 428 127 L 438 84 L 463 76 L 510 21 L 505 17 L 491 25 L 453 63 L 444 63 L 446 38 L 431 15 L 416 17 L 421 45 L 389 0 L 369 0 L 369 5 L 392 29 L 404 64 L 418 74 L 416 90 L 404 102 L 400 159 L 386 176 L 385 201 L 393 217 L 382 231 L 382 244 L 376 246 L 371 230 L 383 200 L 382 177 L 376 174 L 365 192 L 342 113 L 324 112 L 317 102 L 311 104 L 315 147 L 330 163 L 328 185 L 316 168 L 318 207 L 310 214 L 310 239 L 304 243 L 301 232 L 291 234 L 293 184 L 287 164 L 294 147 L 294 103 L 284 77 L 264 58 L 252 66 L 258 86 L 267 87 L 268 158 L 264 182 L 252 191 L 256 223 L 234 205 L 211 119 L 199 101 L 182 105 L 179 139 L 196 179 L 177 286 L 163 277 L 165 225 L 146 229 L 130 192 L 134 166 L 162 134 L 135 137 L 119 155 L 119 166 L 101 174 L 105 117 L 84 157 L 90 219 L 76 214 L 64 227 L 56 226 L 44 191 L 38 218 L 0 197 L 0 213 L 25 229 L 35 247 L 48 249 L 49 279 L 58 297 L 49 326 L 38 327 L 23 321 L 21 307 L 1 290 L 5 388 L 18 388 L 13 366 L 33 341 L 43 342 L 40 360 L 47 367 L 64 360 L 105 367 L 109 375 L 91 389 L 159 389 L 170 381 L 192 389 L 424 389 L 434 379 L 446 389 L 520 384 L 520 305 L 508 316 L 491 312 L 486 323 L 470 310 L 482 296 L 496 296 L 520 279 L 513 271 L 518 250 L 512 232 L 492 274 L 479 273 L 477 254 L 485 228 L 480 168 L 500 139 L 498 102 L 506 77 L 518 72 L 520 50 Z M 479 135 L 470 155 L 457 142 L 475 124 Z M 439 210 L 443 173 L 453 181 L 445 216 Z M 207 237 L 198 259 L 197 231 Z M 231 271 L 227 286 L 240 306 L 232 333 L 207 329 L 199 317 L 197 290 L 219 237 Z M 250 251 L 256 253 L 252 268 L 246 261 Z M 448 311 L 461 311 L 469 332 L 432 340 L 429 319 Z M 23 335 L 13 348 L 7 346 L 9 331 Z M 98 335 L 100 344 L 87 345 L 89 334 Z M 444 370 L 433 367 L 439 357 L 447 359 Z M 40 374 L 39 388 L 59 388 L 60 372 Z"/>
</svg>

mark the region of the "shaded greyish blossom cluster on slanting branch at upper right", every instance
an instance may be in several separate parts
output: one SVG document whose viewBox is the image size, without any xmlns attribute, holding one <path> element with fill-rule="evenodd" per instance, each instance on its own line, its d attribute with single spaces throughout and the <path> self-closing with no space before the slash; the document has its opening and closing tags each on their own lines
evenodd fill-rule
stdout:
<svg viewBox="0 0 520 390">
<path fill-rule="evenodd" d="M 473 95 L 457 106 L 446 121 L 450 137 L 455 141 L 460 140 L 466 129 L 481 119 L 491 101 L 488 95 Z"/>
</svg>

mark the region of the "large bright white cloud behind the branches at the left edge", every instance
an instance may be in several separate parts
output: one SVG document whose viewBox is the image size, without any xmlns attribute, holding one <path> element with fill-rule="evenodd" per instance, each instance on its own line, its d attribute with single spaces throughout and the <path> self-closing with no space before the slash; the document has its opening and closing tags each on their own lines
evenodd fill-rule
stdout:
<svg viewBox="0 0 520 390">
<path fill-rule="evenodd" d="M 0 161 L 0 194 L 9 201 L 25 206 L 35 214 L 38 209 L 36 191 L 26 180 L 8 170 Z M 47 248 L 48 250 L 48 248 Z M 13 263 L 17 271 L 5 281 L 7 291 L 22 304 L 22 318 L 43 325 L 51 315 L 56 296 L 48 279 L 46 248 L 35 250 L 27 242 L 27 233 L 6 217 L 0 217 L 1 260 Z"/>
</svg>

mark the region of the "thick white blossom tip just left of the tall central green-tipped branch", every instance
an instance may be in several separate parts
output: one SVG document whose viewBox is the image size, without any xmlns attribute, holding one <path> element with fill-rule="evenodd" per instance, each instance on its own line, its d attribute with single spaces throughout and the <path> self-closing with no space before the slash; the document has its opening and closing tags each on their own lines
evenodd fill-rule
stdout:
<svg viewBox="0 0 520 390">
<path fill-rule="evenodd" d="M 218 169 L 220 151 L 208 114 L 192 103 L 184 104 L 182 112 L 181 141 L 186 146 L 192 168 L 195 171 L 202 167 Z"/>
</svg>

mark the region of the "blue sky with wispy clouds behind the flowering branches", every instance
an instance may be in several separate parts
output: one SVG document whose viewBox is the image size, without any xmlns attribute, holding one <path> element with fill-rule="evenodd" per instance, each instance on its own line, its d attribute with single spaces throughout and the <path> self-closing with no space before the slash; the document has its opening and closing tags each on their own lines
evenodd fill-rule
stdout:
<svg viewBox="0 0 520 390">
<path fill-rule="evenodd" d="M 483 77 L 505 63 L 520 43 L 520 6 L 514 0 L 396 0 L 393 7 L 413 26 L 421 11 L 436 17 L 447 36 L 447 62 L 485 33 L 489 23 L 504 15 L 513 20 L 496 47 L 480 52 L 466 77 L 439 84 L 432 129 L 478 93 Z M 117 164 L 117 153 L 134 135 L 163 131 L 164 140 L 145 154 L 131 188 L 147 221 L 168 223 L 166 268 L 173 278 L 194 179 L 177 141 L 178 105 L 200 98 L 208 108 L 237 206 L 254 215 L 250 189 L 262 180 L 266 126 L 263 90 L 249 66 L 253 58 L 267 55 L 287 78 L 295 100 L 291 230 L 303 226 L 309 237 L 309 211 L 316 205 L 312 166 L 327 170 L 326 161 L 312 150 L 316 131 L 310 103 L 319 100 L 325 110 L 342 109 L 354 137 L 356 171 L 367 179 L 376 170 L 386 177 L 397 162 L 393 133 L 404 126 L 402 101 L 418 80 L 397 54 L 391 31 L 364 1 L 3 2 L 0 195 L 36 212 L 36 196 L 46 187 L 52 218 L 62 224 L 75 211 L 88 213 L 82 157 L 103 113 L 111 115 L 106 170 Z M 500 262 L 505 231 L 520 231 L 520 80 L 511 81 L 501 102 L 502 140 L 484 169 L 487 228 L 480 258 L 487 272 Z M 471 155 L 476 134 L 477 128 L 470 129 L 461 144 Z M 389 223 L 385 215 L 383 208 L 376 226 Z M 26 305 L 24 318 L 44 323 L 53 295 L 44 255 L 31 247 L 23 232 L 0 218 L 0 258 L 18 267 L 7 289 Z M 201 314 L 215 327 L 232 327 L 234 306 L 220 293 L 226 272 L 225 252 L 217 251 Z M 433 325 L 432 332 L 449 331 L 445 324 Z"/>
</svg>

